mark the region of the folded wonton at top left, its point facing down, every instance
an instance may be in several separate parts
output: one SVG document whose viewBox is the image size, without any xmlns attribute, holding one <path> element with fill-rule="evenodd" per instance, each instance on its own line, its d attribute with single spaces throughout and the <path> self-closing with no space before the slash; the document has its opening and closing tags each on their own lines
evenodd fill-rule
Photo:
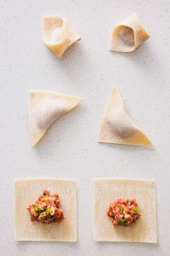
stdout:
<svg viewBox="0 0 170 256">
<path fill-rule="evenodd" d="M 58 58 L 62 58 L 65 51 L 81 36 L 68 27 L 63 17 L 44 17 L 43 41 Z"/>
</svg>

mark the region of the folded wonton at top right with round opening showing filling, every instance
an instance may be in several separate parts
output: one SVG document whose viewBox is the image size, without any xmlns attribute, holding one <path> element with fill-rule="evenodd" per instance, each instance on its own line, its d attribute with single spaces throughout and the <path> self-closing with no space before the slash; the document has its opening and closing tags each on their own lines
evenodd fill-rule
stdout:
<svg viewBox="0 0 170 256">
<path fill-rule="evenodd" d="M 138 17 L 133 13 L 127 20 L 115 26 L 109 50 L 120 52 L 135 51 L 149 37 L 150 35 L 140 25 Z"/>
</svg>

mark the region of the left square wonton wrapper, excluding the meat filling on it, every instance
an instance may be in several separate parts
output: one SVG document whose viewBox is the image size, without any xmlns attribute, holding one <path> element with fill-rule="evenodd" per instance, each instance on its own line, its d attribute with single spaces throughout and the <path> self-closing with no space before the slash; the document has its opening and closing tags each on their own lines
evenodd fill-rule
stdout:
<svg viewBox="0 0 170 256">
<path fill-rule="evenodd" d="M 58 193 L 65 219 L 61 223 L 32 222 L 27 206 L 34 203 L 43 189 Z M 21 179 L 14 183 L 15 231 L 17 241 L 76 242 L 76 182 L 61 179 Z"/>
</svg>

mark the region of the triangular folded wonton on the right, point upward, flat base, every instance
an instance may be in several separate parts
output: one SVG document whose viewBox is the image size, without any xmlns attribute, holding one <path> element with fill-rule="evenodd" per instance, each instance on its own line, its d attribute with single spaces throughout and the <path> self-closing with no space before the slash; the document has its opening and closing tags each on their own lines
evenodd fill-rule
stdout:
<svg viewBox="0 0 170 256">
<path fill-rule="evenodd" d="M 152 145 L 148 137 L 130 119 L 125 103 L 116 88 L 112 89 L 104 109 L 98 141 L 125 145 Z"/>
</svg>

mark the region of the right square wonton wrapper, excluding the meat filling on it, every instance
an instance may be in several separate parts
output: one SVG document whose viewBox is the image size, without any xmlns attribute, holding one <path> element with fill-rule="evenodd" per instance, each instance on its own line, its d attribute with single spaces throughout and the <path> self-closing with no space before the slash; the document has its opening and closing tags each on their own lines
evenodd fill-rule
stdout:
<svg viewBox="0 0 170 256">
<path fill-rule="evenodd" d="M 133 226 L 113 226 L 112 218 L 107 216 L 109 204 L 118 198 L 136 199 L 141 216 Z M 138 179 L 95 180 L 94 240 L 156 243 L 155 182 Z"/>
</svg>

